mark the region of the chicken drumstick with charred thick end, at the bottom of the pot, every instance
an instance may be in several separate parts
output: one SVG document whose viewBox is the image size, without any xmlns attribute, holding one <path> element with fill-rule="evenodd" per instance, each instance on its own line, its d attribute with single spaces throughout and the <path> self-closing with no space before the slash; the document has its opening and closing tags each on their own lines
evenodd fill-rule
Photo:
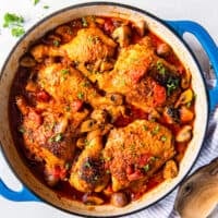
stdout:
<svg viewBox="0 0 218 218">
<path fill-rule="evenodd" d="M 100 192 L 108 184 L 109 174 L 105 169 L 101 149 L 100 136 L 90 140 L 72 167 L 69 182 L 76 190 L 81 192 Z"/>
</svg>

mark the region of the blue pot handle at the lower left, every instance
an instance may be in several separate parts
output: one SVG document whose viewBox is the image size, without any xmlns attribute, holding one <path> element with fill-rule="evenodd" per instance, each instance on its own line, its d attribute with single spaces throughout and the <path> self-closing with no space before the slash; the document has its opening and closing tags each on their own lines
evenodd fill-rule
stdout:
<svg viewBox="0 0 218 218">
<path fill-rule="evenodd" d="M 9 189 L 1 179 L 0 179 L 0 195 L 13 202 L 40 202 L 40 199 L 36 197 L 25 186 L 23 186 L 21 191 L 15 192 Z"/>
</svg>

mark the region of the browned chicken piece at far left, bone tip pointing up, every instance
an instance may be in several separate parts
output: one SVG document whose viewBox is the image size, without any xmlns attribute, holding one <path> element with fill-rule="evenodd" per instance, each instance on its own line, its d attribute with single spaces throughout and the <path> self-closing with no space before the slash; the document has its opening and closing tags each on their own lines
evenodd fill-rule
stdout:
<svg viewBox="0 0 218 218">
<path fill-rule="evenodd" d="M 75 143 L 68 130 L 62 130 L 63 118 L 48 111 L 37 111 L 26 105 L 23 97 L 16 98 L 23 114 L 22 132 L 25 149 L 34 159 L 45 161 L 46 167 L 64 168 L 74 157 Z"/>
</svg>

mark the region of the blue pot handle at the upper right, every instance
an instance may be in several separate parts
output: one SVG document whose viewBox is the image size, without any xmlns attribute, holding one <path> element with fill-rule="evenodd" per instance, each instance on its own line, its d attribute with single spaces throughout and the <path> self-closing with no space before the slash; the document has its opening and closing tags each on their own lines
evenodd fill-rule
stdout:
<svg viewBox="0 0 218 218">
<path fill-rule="evenodd" d="M 185 32 L 193 34 L 202 44 L 215 71 L 216 86 L 208 90 L 210 111 L 218 106 L 218 48 L 207 31 L 192 21 L 166 21 L 181 37 Z"/>
</svg>

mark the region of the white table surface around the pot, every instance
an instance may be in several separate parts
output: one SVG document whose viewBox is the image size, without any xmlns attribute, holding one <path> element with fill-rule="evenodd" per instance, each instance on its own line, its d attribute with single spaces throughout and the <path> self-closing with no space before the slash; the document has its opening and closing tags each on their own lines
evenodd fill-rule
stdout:
<svg viewBox="0 0 218 218">
<path fill-rule="evenodd" d="M 98 0 L 96 0 L 98 1 Z M 105 0 L 108 1 L 108 0 Z M 24 16 L 25 28 L 49 13 L 61 8 L 82 3 L 78 0 L 40 0 L 37 5 L 33 0 L 0 0 L 0 68 L 7 56 L 16 43 L 17 38 L 12 37 L 10 32 L 2 27 L 5 12 L 13 12 Z M 89 2 L 88 0 L 86 2 Z M 114 0 L 144 9 L 160 19 L 166 20 L 192 20 L 201 23 L 211 35 L 218 45 L 218 1 L 217 0 Z M 49 5 L 49 9 L 44 9 Z M 20 190 L 21 183 L 13 175 L 2 155 L 0 154 L 0 177 L 13 190 Z M 60 211 L 44 203 L 14 203 L 0 196 L 0 217 L 3 218 L 72 218 L 76 217 Z M 154 217 L 155 218 L 155 217 Z"/>
</svg>

